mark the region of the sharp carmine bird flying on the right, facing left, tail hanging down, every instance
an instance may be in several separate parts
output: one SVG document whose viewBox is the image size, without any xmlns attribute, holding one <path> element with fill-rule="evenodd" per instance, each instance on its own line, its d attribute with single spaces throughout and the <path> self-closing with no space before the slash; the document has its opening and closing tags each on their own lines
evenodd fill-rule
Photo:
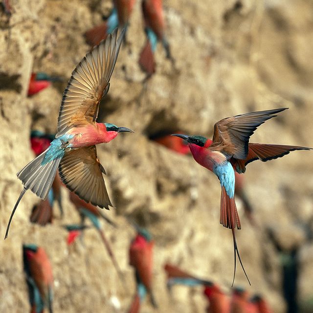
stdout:
<svg viewBox="0 0 313 313">
<path fill-rule="evenodd" d="M 307 147 L 249 143 L 250 136 L 258 126 L 276 116 L 275 113 L 284 110 L 286 108 L 224 118 L 214 125 L 213 140 L 199 135 L 173 134 L 186 140 L 194 159 L 212 171 L 220 180 L 222 186 L 220 223 L 224 227 L 231 228 L 234 242 L 235 269 L 232 285 L 236 273 L 236 252 L 246 275 L 235 237 L 235 227 L 241 228 L 234 199 L 235 171 L 239 174 L 245 173 L 246 165 L 254 160 L 266 162 L 294 150 L 311 150 Z M 249 281 L 247 275 L 246 278 Z"/>
</svg>

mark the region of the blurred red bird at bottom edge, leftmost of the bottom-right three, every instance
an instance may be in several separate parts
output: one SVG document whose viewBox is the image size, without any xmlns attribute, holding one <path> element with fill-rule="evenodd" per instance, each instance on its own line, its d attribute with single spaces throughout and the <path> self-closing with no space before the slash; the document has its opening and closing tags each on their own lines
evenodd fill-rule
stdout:
<svg viewBox="0 0 313 313">
<path fill-rule="evenodd" d="M 229 313 L 230 299 L 217 284 L 206 284 L 203 293 L 210 303 L 207 313 Z"/>
</svg>

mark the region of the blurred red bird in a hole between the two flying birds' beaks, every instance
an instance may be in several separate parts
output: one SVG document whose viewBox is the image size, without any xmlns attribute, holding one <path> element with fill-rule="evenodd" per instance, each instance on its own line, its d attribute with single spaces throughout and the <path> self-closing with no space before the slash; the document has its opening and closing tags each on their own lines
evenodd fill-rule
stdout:
<svg viewBox="0 0 313 313">
<path fill-rule="evenodd" d="M 175 151 L 179 154 L 185 155 L 190 154 L 190 150 L 188 147 L 188 142 L 180 140 L 177 137 L 173 137 L 170 135 L 169 132 L 158 132 L 156 134 L 153 134 L 149 138 L 151 140 L 156 141 L 158 144 Z"/>
</svg>

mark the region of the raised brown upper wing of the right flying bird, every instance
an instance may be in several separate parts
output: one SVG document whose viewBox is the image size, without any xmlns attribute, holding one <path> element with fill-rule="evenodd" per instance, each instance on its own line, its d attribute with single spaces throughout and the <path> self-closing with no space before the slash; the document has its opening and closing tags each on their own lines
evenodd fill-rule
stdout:
<svg viewBox="0 0 313 313">
<path fill-rule="evenodd" d="M 251 112 L 227 117 L 214 125 L 213 143 L 210 149 L 219 150 L 226 156 L 246 159 L 250 136 L 258 126 L 284 109 Z"/>
</svg>

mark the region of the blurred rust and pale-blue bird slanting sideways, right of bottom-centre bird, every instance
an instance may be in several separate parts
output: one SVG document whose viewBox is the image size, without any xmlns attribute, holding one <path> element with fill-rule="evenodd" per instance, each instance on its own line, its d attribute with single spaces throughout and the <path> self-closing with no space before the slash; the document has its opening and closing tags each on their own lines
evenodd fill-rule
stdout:
<svg viewBox="0 0 313 313">
<path fill-rule="evenodd" d="M 185 285 L 189 287 L 210 285 L 211 282 L 197 278 L 181 270 L 175 265 L 165 264 L 164 269 L 167 273 L 167 288 L 170 290 L 173 285 Z"/>
</svg>

